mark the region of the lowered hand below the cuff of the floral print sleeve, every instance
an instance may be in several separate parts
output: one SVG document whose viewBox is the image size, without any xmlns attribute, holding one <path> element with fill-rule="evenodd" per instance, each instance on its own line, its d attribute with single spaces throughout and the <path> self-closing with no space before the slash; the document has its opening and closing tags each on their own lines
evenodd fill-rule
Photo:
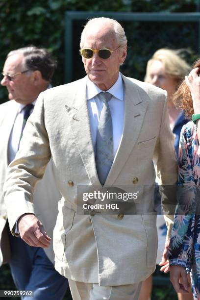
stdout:
<svg viewBox="0 0 200 300">
<path fill-rule="evenodd" d="M 182 283 L 179 279 L 182 278 Z M 181 266 L 171 266 L 170 267 L 170 281 L 172 282 L 176 293 L 188 294 L 190 283 L 187 279 L 187 273 L 184 267 Z"/>
</svg>

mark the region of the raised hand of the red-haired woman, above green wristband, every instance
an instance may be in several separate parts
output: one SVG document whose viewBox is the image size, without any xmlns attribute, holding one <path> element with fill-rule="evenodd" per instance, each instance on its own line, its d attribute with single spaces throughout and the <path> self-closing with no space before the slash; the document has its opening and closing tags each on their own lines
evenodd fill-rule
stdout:
<svg viewBox="0 0 200 300">
<path fill-rule="evenodd" d="M 185 83 L 190 89 L 193 107 L 196 114 L 200 113 L 200 68 L 193 69 L 188 76 L 185 76 Z"/>
</svg>

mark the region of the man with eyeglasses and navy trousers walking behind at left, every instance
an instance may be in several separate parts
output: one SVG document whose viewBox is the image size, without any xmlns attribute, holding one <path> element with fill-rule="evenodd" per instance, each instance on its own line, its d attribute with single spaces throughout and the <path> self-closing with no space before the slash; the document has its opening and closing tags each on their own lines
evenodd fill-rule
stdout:
<svg viewBox="0 0 200 300">
<path fill-rule="evenodd" d="M 7 166 L 19 149 L 25 123 L 38 95 L 51 87 L 55 68 L 56 61 L 46 49 L 25 47 L 8 53 L 1 80 L 1 85 L 8 90 L 9 101 L 0 105 L 0 265 L 8 262 L 17 289 L 33 290 L 35 300 L 61 300 L 68 282 L 54 268 L 52 246 L 45 249 L 31 247 L 37 245 L 28 245 L 20 237 L 13 236 L 19 235 L 17 228 L 11 234 L 2 186 Z M 61 195 L 54 183 L 51 160 L 43 179 L 35 188 L 33 198 L 34 213 L 52 237 Z M 16 200 L 19 202 L 17 207 L 12 207 L 12 214 L 17 210 L 23 214 L 20 197 L 17 196 Z"/>
</svg>

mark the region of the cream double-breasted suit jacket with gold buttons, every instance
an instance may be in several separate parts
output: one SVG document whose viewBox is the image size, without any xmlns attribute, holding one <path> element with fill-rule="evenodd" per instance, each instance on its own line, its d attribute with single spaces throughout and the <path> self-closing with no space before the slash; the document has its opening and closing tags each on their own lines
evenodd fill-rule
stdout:
<svg viewBox="0 0 200 300">
<path fill-rule="evenodd" d="M 166 93 L 122 76 L 125 84 L 123 137 L 105 186 L 151 186 L 152 158 L 162 184 L 177 179 L 173 134 Z M 80 215 L 77 187 L 100 186 L 90 133 L 86 77 L 47 90 L 39 96 L 4 185 L 11 230 L 19 215 L 33 212 L 33 188 L 52 159 L 62 195 L 53 232 L 55 268 L 68 278 L 102 286 L 141 281 L 155 268 L 156 217 L 152 215 Z M 137 182 L 137 183 L 136 183 Z M 150 201 L 153 188 L 141 197 Z M 172 222 L 168 219 L 168 223 Z"/>
</svg>

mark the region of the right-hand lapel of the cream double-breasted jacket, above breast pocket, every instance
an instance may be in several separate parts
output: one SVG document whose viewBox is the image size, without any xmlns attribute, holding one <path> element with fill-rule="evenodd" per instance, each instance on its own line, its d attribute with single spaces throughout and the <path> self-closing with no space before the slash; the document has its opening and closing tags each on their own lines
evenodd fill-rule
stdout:
<svg viewBox="0 0 200 300">
<path fill-rule="evenodd" d="M 124 129 L 113 165 L 105 181 L 106 186 L 114 184 L 135 146 L 149 102 L 149 96 L 142 88 L 123 75 L 122 78 L 125 84 Z"/>
</svg>

